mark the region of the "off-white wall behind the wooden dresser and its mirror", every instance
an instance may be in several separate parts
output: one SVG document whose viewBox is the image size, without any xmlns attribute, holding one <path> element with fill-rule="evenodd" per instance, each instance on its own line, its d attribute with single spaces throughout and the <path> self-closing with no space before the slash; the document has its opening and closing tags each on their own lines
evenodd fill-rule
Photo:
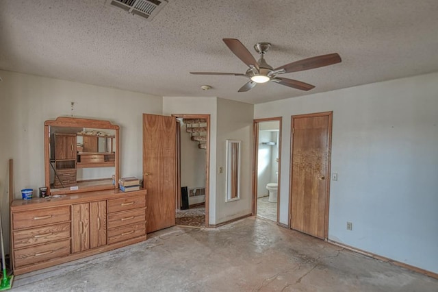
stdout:
<svg viewBox="0 0 438 292">
<path fill-rule="evenodd" d="M 120 125 L 120 174 L 142 177 L 142 113 L 161 114 L 162 97 L 8 71 L 0 71 L 0 76 L 0 191 L 4 220 L 8 217 L 5 198 L 9 158 L 14 159 L 14 197 L 21 198 L 21 188 L 38 190 L 44 186 L 44 121 L 48 119 L 73 114 Z M 7 222 L 4 226 L 8 226 Z"/>
</svg>

